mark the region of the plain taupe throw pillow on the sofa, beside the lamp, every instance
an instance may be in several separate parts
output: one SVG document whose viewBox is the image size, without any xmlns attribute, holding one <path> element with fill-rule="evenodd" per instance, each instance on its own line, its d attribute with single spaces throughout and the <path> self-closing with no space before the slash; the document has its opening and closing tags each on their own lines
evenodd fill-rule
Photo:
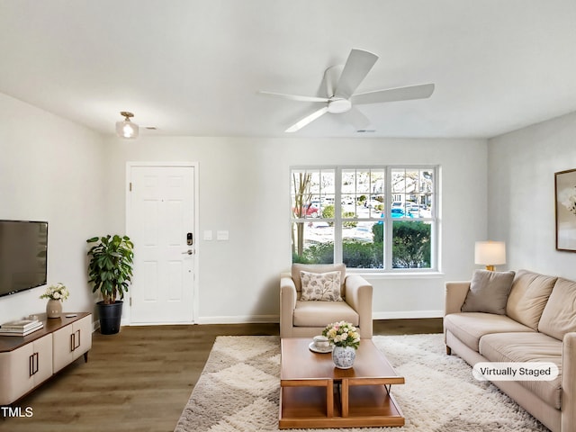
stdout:
<svg viewBox="0 0 576 432">
<path fill-rule="evenodd" d="M 506 302 L 514 280 L 514 272 L 476 270 L 470 290 L 462 305 L 463 312 L 506 314 Z"/>
</svg>

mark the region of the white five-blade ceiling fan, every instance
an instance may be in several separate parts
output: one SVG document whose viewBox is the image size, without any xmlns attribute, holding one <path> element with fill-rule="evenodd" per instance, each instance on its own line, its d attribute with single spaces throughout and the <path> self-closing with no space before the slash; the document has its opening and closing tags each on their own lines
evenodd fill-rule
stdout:
<svg viewBox="0 0 576 432">
<path fill-rule="evenodd" d="M 346 120 L 352 123 L 356 130 L 365 129 L 370 124 L 370 121 L 365 114 L 356 109 L 355 105 L 426 99 L 434 92 L 434 84 L 422 84 L 355 94 L 356 88 L 364 81 L 377 59 L 378 56 L 372 52 L 363 49 L 352 49 L 344 66 L 329 67 L 324 72 L 326 97 L 266 91 L 259 91 L 258 93 L 282 97 L 292 101 L 324 103 L 320 110 L 312 112 L 300 121 L 296 121 L 285 130 L 286 132 L 295 132 L 301 130 L 312 121 L 319 119 L 327 112 L 345 114 Z"/>
</svg>

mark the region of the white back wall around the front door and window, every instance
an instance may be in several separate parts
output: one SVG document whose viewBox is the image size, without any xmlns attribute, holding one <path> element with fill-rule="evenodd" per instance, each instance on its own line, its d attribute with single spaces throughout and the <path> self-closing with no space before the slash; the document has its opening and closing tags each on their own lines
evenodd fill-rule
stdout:
<svg viewBox="0 0 576 432">
<path fill-rule="evenodd" d="M 197 321 L 277 321 L 278 275 L 291 266 L 290 166 L 439 165 L 443 274 L 368 279 L 375 318 L 440 316 L 445 281 L 470 278 L 474 241 L 486 238 L 486 146 L 483 139 L 111 138 L 109 230 L 124 232 L 126 162 L 198 162 Z M 205 229 L 227 229 L 229 241 L 204 241 Z"/>
</svg>

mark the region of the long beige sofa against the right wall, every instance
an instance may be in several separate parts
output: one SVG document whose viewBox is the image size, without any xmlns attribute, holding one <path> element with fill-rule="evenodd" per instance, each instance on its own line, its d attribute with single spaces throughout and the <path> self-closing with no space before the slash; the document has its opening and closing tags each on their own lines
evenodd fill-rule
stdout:
<svg viewBox="0 0 576 432">
<path fill-rule="evenodd" d="M 554 381 L 493 383 L 546 428 L 576 432 L 576 283 L 520 270 L 504 315 L 463 312 L 470 288 L 471 282 L 446 283 L 446 352 L 470 365 L 554 363 L 560 372 Z"/>
</svg>

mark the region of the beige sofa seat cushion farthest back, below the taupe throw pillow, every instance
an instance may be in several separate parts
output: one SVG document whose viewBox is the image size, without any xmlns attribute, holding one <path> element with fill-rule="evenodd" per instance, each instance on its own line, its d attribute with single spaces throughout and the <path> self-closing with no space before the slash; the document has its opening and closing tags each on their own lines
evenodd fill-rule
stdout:
<svg viewBox="0 0 576 432">
<path fill-rule="evenodd" d="M 451 313 L 444 317 L 444 328 L 466 347 L 478 352 L 478 344 L 482 336 L 490 333 L 509 333 L 512 331 L 534 333 L 533 329 L 512 320 L 506 315 L 496 315 L 483 312 Z"/>
</svg>

